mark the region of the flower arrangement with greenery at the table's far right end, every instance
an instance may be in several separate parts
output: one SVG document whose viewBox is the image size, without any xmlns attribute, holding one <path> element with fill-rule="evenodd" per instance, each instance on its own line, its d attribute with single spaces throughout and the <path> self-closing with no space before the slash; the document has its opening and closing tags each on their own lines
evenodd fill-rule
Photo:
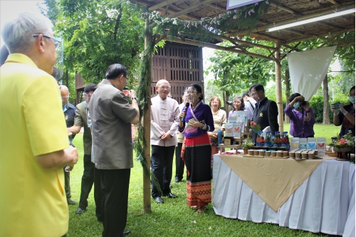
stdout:
<svg viewBox="0 0 356 237">
<path fill-rule="evenodd" d="M 337 152 L 337 158 L 350 159 L 348 154 L 355 152 L 355 137 L 352 136 L 349 130 L 346 135 L 337 136 L 337 139 L 333 139 L 329 146 L 334 147 L 334 151 Z M 355 160 L 351 162 L 355 163 Z"/>
</svg>

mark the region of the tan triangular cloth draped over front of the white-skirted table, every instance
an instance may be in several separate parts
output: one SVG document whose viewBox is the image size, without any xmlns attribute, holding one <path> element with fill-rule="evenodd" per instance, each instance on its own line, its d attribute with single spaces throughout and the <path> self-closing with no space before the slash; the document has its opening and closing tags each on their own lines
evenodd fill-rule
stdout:
<svg viewBox="0 0 356 237">
<path fill-rule="evenodd" d="M 241 155 L 219 155 L 221 159 L 244 181 L 261 199 L 273 209 L 278 209 L 293 191 L 305 181 L 325 159 L 252 158 Z"/>
</svg>

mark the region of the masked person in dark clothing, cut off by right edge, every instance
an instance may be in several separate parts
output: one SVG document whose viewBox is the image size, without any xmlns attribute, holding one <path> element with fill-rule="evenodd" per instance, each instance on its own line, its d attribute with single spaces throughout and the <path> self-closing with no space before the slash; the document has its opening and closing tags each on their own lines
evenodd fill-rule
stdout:
<svg viewBox="0 0 356 237">
<path fill-rule="evenodd" d="M 350 105 L 340 104 L 340 111 L 331 105 L 334 113 L 333 122 L 335 126 L 341 125 L 340 136 L 346 135 L 349 131 L 355 136 L 355 85 L 350 89 L 349 100 Z"/>
</svg>

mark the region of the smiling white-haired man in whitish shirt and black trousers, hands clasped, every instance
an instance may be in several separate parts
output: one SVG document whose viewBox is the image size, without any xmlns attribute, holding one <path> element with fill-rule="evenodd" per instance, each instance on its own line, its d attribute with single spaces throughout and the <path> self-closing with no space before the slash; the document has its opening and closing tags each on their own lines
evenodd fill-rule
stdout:
<svg viewBox="0 0 356 237">
<path fill-rule="evenodd" d="M 156 90 L 158 95 L 151 99 L 151 167 L 154 174 L 151 195 L 157 203 L 164 203 L 162 196 L 177 198 L 169 185 L 180 111 L 177 100 L 168 97 L 170 85 L 167 80 L 159 80 Z"/>
</svg>

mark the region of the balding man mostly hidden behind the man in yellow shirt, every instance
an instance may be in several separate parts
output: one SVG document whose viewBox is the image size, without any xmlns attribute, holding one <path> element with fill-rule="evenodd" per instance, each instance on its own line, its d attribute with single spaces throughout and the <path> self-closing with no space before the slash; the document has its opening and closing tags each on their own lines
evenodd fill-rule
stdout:
<svg viewBox="0 0 356 237">
<path fill-rule="evenodd" d="M 64 113 L 64 118 L 66 119 L 67 127 L 72 127 L 74 125 L 74 117 L 75 117 L 75 106 L 70 104 L 69 102 L 69 90 L 66 85 L 60 86 L 61 97 L 62 97 L 62 109 Z M 72 144 L 72 140 L 75 135 L 70 137 L 70 144 Z M 66 191 L 67 202 L 69 205 L 76 205 L 77 202 L 70 199 L 70 172 L 66 171 L 66 167 L 64 169 L 64 189 Z"/>
</svg>

